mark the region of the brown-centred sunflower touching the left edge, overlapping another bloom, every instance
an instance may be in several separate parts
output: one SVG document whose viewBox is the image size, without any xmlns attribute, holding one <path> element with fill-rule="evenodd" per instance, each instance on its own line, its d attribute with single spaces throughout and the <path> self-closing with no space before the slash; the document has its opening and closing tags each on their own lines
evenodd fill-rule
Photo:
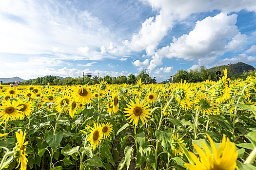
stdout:
<svg viewBox="0 0 256 170">
<path fill-rule="evenodd" d="M 16 119 L 23 119 L 23 112 L 20 111 L 23 106 L 18 106 L 19 102 L 16 102 L 9 99 L 7 102 L 2 102 L 2 106 L 0 106 L 0 120 L 16 120 Z"/>
</svg>

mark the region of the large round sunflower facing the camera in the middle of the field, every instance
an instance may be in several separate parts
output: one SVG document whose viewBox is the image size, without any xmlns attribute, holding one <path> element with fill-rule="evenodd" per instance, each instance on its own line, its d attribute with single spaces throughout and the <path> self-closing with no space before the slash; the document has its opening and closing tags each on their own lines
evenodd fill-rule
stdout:
<svg viewBox="0 0 256 170">
<path fill-rule="evenodd" d="M 130 120 L 130 123 L 133 121 L 133 125 L 138 125 L 138 119 L 142 121 L 144 124 L 145 121 L 147 121 L 146 118 L 150 118 L 148 115 L 152 115 L 152 113 L 149 113 L 151 109 L 147 109 L 150 107 L 150 105 L 147 105 L 148 103 L 143 100 L 141 103 L 139 103 L 139 99 L 135 99 L 136 103 L 133 101 L 129 102 L 129 104 L 126 104 L 128 108 L 124 108 L 124 113 L 127 113 L 125 116 L 130 116 L 128 119 Z M 145 121 L 144 121 L 145 120 Z"/>
</svg>

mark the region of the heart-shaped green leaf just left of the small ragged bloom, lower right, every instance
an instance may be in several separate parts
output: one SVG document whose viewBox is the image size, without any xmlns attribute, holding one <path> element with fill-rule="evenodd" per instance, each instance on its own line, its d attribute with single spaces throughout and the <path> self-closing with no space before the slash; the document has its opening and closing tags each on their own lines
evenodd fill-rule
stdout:
<svg viewBox="0 0 256 170">
<path fill-rule="evenodd" d="M 160 131 L 156 130 L 155 132 L 157 139 L 161 143 L 161 145 L 166 149 L 170 149 L 171 147 L 171 141 L 172 141 L 172 132 L 168 130 Z"/>
</svg>

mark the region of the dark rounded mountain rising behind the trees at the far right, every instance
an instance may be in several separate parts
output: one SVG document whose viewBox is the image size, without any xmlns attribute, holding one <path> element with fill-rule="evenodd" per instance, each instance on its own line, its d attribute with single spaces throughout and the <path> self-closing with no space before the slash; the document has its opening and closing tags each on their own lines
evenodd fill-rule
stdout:
<svg viewBox="0 0 256 170">
<path fill-rule="evenodd" d="M 236 64 L 229 64 L 229 65 L 224 65 L 224 66 L 217 66 L 214 68 L 210 68 L 210 70 L 220 70 L 222 71 L 223 69 L 227 68 L 227 71 L 229 73 L 235 74 L 235 73 L 243 73 L 243 71 L 249 71 L 249 70 L 254 70 L 255 68 L 251 65 L 238 62 Z"/>
</svg>

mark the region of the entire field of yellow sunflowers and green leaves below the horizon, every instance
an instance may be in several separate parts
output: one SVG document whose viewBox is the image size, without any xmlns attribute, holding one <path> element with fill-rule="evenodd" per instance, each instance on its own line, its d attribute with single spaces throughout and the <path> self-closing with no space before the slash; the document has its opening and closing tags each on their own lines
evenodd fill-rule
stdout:
<svg viewBox="0 0 256 170">
<path fill-rule="evenodd" d="M 0 85 L 0 170 L 256 170 L 256 77 Z"/>
</svg>

